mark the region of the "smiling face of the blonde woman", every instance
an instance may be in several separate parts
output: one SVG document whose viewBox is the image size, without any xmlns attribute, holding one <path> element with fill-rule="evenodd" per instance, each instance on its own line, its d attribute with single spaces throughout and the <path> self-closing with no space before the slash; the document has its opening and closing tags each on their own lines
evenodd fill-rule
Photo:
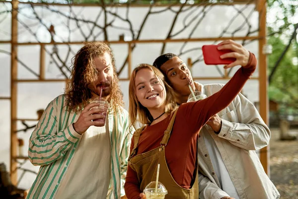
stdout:
<svg viewBox="0 0 298 199">
<path fill-rule="evenodd" d="M 136 74 L 136 96 L 140 103 L 150 109 L 163 108 L 166 97 L 164 84 L 150 69 L 141 69 Z"/>
</svg>

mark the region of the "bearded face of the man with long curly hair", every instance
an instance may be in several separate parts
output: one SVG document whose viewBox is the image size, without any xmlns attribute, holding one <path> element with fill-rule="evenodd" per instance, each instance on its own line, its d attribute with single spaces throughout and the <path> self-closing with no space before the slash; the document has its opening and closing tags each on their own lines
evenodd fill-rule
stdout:
<svg viewBox="0 0 298 199">
<path fill-rule="evenodd" d="M 102 88 L 102 97 L 107 97 L 111 93 L 113 83 L 113 66 L 110 55 L 106 52 L 103 56 L 94 58 L 97 79 L 89 85 L 89 89 L 97 96 L 100 95 Z"/>
</svg>

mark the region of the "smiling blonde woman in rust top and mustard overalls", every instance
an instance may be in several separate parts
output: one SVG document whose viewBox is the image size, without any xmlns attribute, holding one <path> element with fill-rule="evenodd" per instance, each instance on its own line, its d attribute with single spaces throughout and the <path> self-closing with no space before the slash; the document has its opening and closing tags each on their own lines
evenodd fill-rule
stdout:
<svg viewBox="0 0 298 199">
<path fill-rule="evenodd" d="M 160 164 L 159 181 L 168 191 L 166 199 L 198 199 L 197 139 L 203 125 L 226 107 L 241 91 L 256 68 L 250 53 L 221 91 L 205 100 L 176 107 L 171 88 L 162 73 L 141 64 L 132 73 L 129 85 L 129 116 L 133 126 L 137 117 L 144 125 L 132 138 L 125 183 L 128 199 L 146 198 L 142 193 L 154 181 Z M 189 84 L 185 79 L 185 85 Z"/>
</svg>

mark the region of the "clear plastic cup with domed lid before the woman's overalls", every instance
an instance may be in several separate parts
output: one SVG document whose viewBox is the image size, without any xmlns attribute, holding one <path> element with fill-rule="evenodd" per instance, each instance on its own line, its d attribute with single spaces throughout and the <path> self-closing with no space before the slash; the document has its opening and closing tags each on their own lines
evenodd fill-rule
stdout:
<svg viewBox="0 0 298 199">
<path fill-rule="evenodd" d="M 157 192 L 155 192 L 155 185 L 156 181 L 152 181 L 144 189 L 143 192 L 146 195 L 146 199 L 164 199 L 165 195 L 167 195 L 167 190 L 162 183 L 158 182 Z"/>
</svg>

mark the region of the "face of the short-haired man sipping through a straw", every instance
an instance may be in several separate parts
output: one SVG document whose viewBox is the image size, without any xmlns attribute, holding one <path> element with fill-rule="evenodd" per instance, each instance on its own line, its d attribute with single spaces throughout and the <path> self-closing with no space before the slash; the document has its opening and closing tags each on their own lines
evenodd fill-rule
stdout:
<svg viewBox="0 0 298 199">
<path fill-rule="evenodd" d="M 191 81 L 190 86 L 195 91 L 191 73 L 186 64 L 179 57 L 173 57 L 168 60 L 160 67 L 160 69 L 167 77 L 171 87 L 176 93 L 182 96 L 190 95 L 191 92 L 188 87 L 189 80 Z"/>
</svg>

